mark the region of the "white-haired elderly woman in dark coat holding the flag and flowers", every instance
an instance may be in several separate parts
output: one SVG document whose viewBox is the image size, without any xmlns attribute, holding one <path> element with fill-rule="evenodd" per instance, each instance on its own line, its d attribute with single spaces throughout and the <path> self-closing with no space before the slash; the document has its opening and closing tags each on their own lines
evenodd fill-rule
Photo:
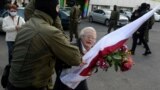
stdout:
<svg viewBox="0 0 160 90">
<path fill-rule="evenodd" d="M 93 27 L 85 27 L 84 29 L 81 30 L 80 37 L 76 45 L 79 47 L 79 50 L 82 55 L 87 53 L 93 47 L 93 45 L 96 42 L 96 38 L 97 38 L 96 30 Z M 62 72 L 62 70 L 59 70 L 57 72 L 58 74 L 54 90 L 72 90 L 60 81 L 59 75 Z M 86 80 L 82 81 L 74 90 L 88 90 Z"/>
</svg>

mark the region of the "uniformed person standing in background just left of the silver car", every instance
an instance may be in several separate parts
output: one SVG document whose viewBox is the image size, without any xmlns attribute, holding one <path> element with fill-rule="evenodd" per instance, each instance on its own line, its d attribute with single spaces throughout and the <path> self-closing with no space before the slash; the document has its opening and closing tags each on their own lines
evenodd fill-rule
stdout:
<svg viewBox="0 0 160 90">
<path fill-rule="evenodd" d="M 76 41 L 78 40 L 78 21 L 80 17 L 80 9 L 76 4 L 75 0 L 71 1 L 71 12 L 70 12 L 70 42 L 73 40 L 75 35 Z"/>
</svg>

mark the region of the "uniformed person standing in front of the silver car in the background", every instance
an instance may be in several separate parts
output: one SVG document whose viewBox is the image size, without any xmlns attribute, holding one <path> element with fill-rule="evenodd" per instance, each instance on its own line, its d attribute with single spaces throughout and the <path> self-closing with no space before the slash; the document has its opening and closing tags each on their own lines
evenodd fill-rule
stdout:
<svg viewBox="0 0 160 90">
<path fill-rule="evenodd" d="M 108 27 L 108 33 L 111 32 L 112 28 L 115 30 L 117 29 L 117 22 L 119 20 L 119 11 L 117 10 L 117 5 L 114 5 L 113 11 L 111 12 L 111 16 L 109 19 L 109 27 Z"/>
</svg>

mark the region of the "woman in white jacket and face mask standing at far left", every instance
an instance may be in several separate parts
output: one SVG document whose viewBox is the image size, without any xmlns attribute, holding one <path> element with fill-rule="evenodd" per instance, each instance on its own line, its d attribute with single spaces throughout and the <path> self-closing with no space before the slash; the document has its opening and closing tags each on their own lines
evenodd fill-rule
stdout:
<svg viewBox="0 0 160 90">
<path fill-rule="evenodd" d="M 17 36 L 17 32 L 20 30 L 20 27 L 25 24 L 25 21 L 22 17 L 17 15 L 17 6 L 10 4 L 9 5 L 9 16 L 3 19 L 2 30 L 6 32 L 6 42 L 8 46 L 9 53 L 9 64 L 12 59 L 12 50 Z"/>
</svg>

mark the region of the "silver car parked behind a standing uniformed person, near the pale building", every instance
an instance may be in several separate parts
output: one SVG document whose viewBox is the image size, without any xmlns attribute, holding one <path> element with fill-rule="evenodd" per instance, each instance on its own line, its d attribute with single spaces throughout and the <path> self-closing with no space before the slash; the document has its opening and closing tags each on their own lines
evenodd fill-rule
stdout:
<svg viewBox="0 0 160 90">
<path fill-rule="evenodd" d="M 103 24 L 108 26 L 110 16 L 111 16 L 111 10 L 97 9 L 97 10 L 94 10 L 94 11 L 90 12 L 89 21 L 90 22 L 95 21 L 95 22 L 103 23 Z M 119 21 L 117 23 L 117 26 L 126 25 L 126 24 L 128 24 L 128 21 L 129 20 L 128 20 L 127 17 L 120 14 L 120 18 L 119 18 Z"/>
</svg>

